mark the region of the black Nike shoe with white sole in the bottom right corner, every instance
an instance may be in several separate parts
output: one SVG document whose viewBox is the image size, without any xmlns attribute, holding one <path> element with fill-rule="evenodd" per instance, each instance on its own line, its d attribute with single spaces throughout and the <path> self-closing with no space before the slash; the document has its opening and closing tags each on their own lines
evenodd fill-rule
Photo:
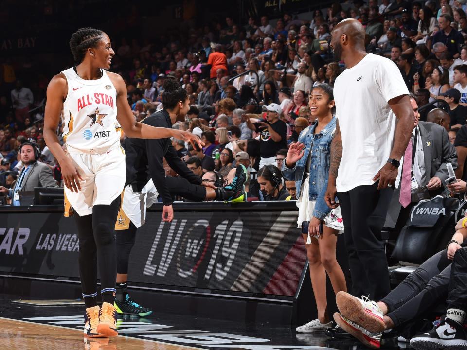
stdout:
<svg viewBox="0 0 467 350">
<path fill-rule="evenodd" d="M 417 350 L 465 350 L 467 337 L 459 323 L 446 318 L 428 333 L 412 338 L 410 345 Z"/>
</svg>

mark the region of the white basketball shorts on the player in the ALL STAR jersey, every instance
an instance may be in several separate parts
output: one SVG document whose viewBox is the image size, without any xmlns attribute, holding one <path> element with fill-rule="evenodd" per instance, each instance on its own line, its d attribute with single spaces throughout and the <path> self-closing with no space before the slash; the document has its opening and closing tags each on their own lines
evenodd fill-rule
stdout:
<svg viewBox="0 0 467 350">
<path fill-rule="evenodd" d="M 66 201 L 79 216 L 92 214 L 92 207 L 108 205 L 122 194 L 125 186 L 125 151 L 121 146 L 103 153 L 68 151 L 67 156 L 78 169 L 81 190 L 71 192 L 65 187 Z M 67 216 L 67 204 L 65 204 Z"/>
</svg>

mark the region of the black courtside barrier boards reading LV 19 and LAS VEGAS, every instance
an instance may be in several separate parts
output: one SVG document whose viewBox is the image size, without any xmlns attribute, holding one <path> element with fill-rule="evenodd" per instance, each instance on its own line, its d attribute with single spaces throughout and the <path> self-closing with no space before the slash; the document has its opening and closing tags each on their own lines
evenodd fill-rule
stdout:
<svg viewBox="0 0 467 350">
<path fill-rule="evenodd" d="M 306 251 L 295 204 L 287 206 L 287 211 L 191 212 L 176 207 L 172 223 L 151 210 L 137 233 L 129 280 L 293 297 Z M 59 212 L 1 210 L 0 215 L 1 272 L 78 278 L 73 218 Z"/>
</svg>

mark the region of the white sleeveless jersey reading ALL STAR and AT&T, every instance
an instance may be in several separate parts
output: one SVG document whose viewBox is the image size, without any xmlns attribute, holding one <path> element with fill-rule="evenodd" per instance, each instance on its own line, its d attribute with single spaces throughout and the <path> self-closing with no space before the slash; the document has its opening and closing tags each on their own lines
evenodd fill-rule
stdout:
<svg viewBox="0 0 467 350">
<path fill-rule="evenodd" d="M 107 152 L 120 146 L 115 129 L 117 91 L 108 74 L 96 80 L 81 79 L 74 68 L 62 71 L 68 82 L 63 103 L 63 140 L 73 151 Z"/>
</svg>

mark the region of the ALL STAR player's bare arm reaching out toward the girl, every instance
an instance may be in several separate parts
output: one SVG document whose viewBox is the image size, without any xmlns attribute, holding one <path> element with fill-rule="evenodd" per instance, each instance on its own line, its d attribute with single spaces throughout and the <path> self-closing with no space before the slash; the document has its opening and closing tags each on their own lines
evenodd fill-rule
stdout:
<svg viewBox="0 0 467 350">
<path fill-rule="evenodd" d="M 122 126 L 126 136 L 139 139 L 165 139 L 174 137 L 183 141 L 196 142 L 202 147 L 201 140 L 198 136 L 189 131 L 155 127 L 137 122 L 128 105 L 126 85 L 122 77 L 115 73 L 108 73 L 108 76 L 117 89 L 117 120 Z"/>
</svg>

